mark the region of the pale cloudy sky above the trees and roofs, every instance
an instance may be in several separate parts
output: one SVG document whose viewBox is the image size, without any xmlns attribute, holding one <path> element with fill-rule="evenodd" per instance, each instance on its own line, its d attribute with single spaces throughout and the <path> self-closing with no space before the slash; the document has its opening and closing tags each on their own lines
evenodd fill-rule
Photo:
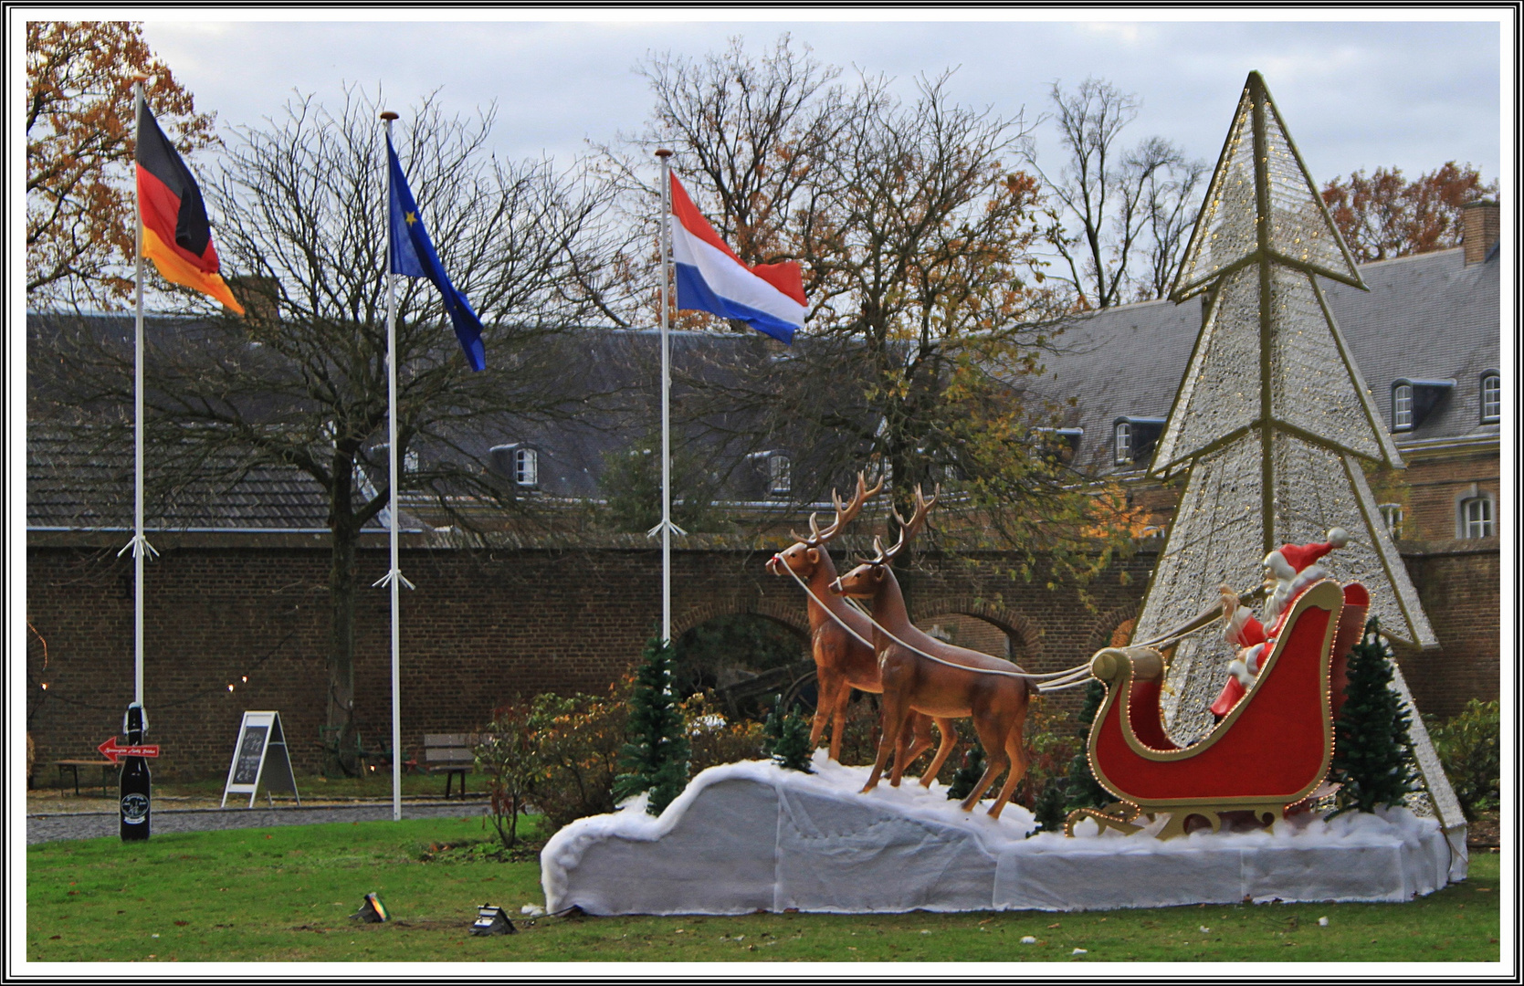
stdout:
<svg viewBox="0 0 1524 986">
<path fill-rule="evenodd" d="M 1498 12 L 1192 15 L 1219 20 L 1076 20 L 1084 11 L 974 11 L 962 20 L 945 11 L 468 11 L 457 20 L 407 9 L 143 11 L 154 50 L 219 125 L 258 125 L 293 91 L 338 102 L 346 82 L 379 87 L 402 111 L 437 88 L 451 110 L 497 102 L 500 154 L 565 163 L 588 140 L 645 120 L 651 98 L 632 69 L 649 52 L 701 58 L 741 37 L 760 53 L 789 32 L 821 61 L 895 76 L 907 93 L 916 76 L 956 69 L 956 99 L 1029 120 L 1047 108 L 1055 81 L 1100 76 L 1143 101 L 1128 143 L 1158 134 L 1209 162 L 1257 69 L 1320 183 L 1381 166 L 1413 177 L 1448 160 L 1469 162 L 1487 180 L 1512 168 L 1500 160 L 1512 146 L 1512 136 L 1500 136 L 1512 114 L 1501 105 L 1501 66 L 1512 55 Z M 1056 148 L 1049 131 L 1038 137 L 1042 163 Z"/>
</svg>

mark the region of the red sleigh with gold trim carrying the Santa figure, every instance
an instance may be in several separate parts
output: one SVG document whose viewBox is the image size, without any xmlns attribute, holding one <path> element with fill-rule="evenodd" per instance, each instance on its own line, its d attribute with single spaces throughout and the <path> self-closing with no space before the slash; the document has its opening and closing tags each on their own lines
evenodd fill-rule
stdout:
<svg viewBox="0 0 1524 986">
<path fill-rule="evenodd" d="M 1248 693 L 1198 742 L 1177 747 L 1164 735 L 1158 698 L 1164 661 L 1152 648 L 1106 648 L 1091 674 L 1106 699 L 1090 730 L 1090 767 L 1117 799 L 1102 811 L 1071 812 L 1123 832 L 1132 820 L 1169 812 L 1158 838 L 1186 831 L 1199 815 L 1218 831 L 1224 812 L 1247 811 L 1266 824 L 1305 800 L 1329 770 L 1334 721 L 1344 699 L 1344 663 L 1359 642 L 1370 596 L 1358 582 L 1309 587 L 1292 605 L 1269 658 Z"/>
</svg>

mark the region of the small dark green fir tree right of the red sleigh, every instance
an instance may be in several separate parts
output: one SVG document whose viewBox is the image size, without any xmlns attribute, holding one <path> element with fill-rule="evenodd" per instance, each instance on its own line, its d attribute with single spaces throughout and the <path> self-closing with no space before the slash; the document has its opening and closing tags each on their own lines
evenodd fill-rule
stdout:
<svg viewBox="0 0 1524 986">
<path fill-rule="evenodd" d="M 1349 655 L 1349 684 L 1334 727 L 1329 777 L 1343 785 L 1338 812 L 1401 805 L 1405 794 L 1417 789 L 1408 713 L 1391 690 L 1391 648 L 1381 639 L 1376 620 L 1366 623 L 1366 635 Z"/>
</svg>

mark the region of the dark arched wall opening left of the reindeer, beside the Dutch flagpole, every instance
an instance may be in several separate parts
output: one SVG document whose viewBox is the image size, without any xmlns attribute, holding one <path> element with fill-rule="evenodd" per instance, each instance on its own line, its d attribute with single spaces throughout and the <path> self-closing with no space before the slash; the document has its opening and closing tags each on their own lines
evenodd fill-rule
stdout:
<svg viewBox="0 0 1524 986">
<path fill-rule="evenodd" d="M 727 613 L 678 635 L 678 695 L 713 692 L 732 718 L 765 718 L 773 696 L 815 709 L 815 661 L 796 628 L 753 613 Z"/>
</svg>

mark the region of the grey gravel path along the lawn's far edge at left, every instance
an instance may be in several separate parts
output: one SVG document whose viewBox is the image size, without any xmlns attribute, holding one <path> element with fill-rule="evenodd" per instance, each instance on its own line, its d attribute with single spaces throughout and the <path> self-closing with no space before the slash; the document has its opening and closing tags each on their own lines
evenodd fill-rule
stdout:
<svg viewBox="0 0 1524 986">
<path fill-rule="evenodd" d="M 486 802 L 402 803 L 402 818 L 460 818 L 480 815 Z M 392 818 L 392 803 L 323 808 L 171 808 L 155 811 L 154 834 L 210 832 L 216 829 L 256 829 L 273 824 L 322 824 L 325 821 L 386 821 Z M 26 843 L 50 843 L 61 838 L 102 838 L 119 835 L 117 812 L 72 812 L 27 815 Z"/>
</svg>

